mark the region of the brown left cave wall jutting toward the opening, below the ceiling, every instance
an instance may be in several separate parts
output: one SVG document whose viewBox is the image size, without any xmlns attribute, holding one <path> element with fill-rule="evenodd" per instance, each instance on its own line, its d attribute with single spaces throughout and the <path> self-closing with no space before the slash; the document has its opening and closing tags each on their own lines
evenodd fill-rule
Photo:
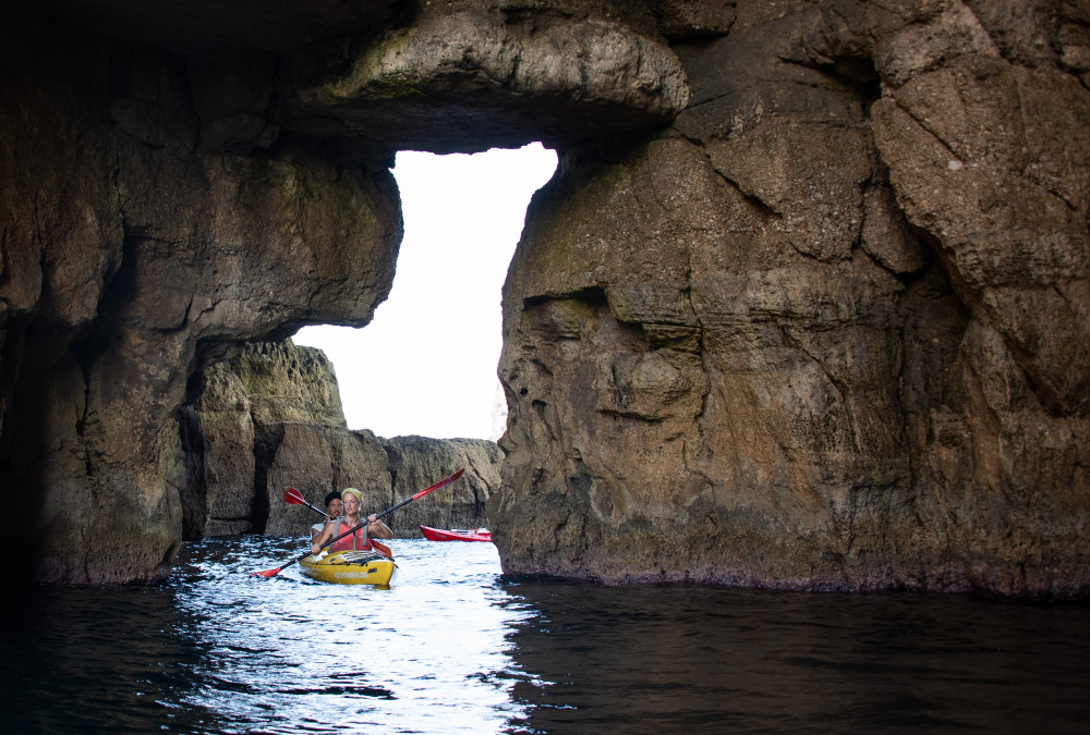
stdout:
<svg viewBox="0 0 1090 735">
<path fill-rule="evenodd" d="M 392 281 L 396 187 L 298 152 L 195 155 L 177 59 L 14 20 L 0 456 L 25 490 L 5 542 L 34 539 L 43 580 L 158 578 L 181 541 L 191 376 L 251 339 L 366 323 Z M 145 139 L 111 99 L 146 102 Z"/>
</svg>

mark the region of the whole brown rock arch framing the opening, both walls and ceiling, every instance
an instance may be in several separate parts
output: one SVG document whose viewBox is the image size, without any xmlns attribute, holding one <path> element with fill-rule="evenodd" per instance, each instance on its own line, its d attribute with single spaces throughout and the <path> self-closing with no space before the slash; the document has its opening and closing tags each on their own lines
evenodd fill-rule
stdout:
<svg viewBox="0 0 1090 735">
<path fill-rule="evenodd" d="M 507 571 L 1090 589 L 1077 3 L 41 8 L 0 29 L 2 538 L 46 539 L 36 578 L 157 578 L 209 498 L 238 529 L 217 431 L 253 432 L 271 503 L 337 430 L 202 416 L 197 376 L 367 323 L 396 150 L 542 139 L 504 291 Z M 393 475 L 416 444 L 383 446 L 392 493 L 433 479 Z"/>
</svg>

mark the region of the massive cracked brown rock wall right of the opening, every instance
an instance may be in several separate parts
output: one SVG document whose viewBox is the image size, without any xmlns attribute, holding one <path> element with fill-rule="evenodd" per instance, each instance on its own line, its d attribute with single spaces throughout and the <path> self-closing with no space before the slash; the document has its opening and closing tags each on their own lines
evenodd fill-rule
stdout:
<svg viewBox="0 0 1090 735">
<path fill-rule="evenodd" d="M 738 2 L 669 134 L 567 155 L 505 285 L 506 569 L 1090 589 L 1090 19 L 1022 5 Z"/>
</svg>

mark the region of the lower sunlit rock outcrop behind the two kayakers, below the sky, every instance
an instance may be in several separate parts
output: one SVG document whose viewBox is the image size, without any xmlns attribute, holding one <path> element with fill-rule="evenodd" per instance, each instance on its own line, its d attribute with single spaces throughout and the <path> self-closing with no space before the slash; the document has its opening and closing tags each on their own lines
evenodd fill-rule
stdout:
<svg viewBox="0 0 1090 735">
<path fill-rule="evenodd" d="M 364 511 L 379 512 L 462 468 L 457 483 L 385 522 L 399 537 L 420 537 L 421 524 L 487 525 L 485 504 L 499 486 L 497 444 L 349 430 L 322 351 L 290 340 L 252 345 L 205 370 L 204 380 L 193 405 L 194 433 L 204 441 L 186 454 L 196 481 L 181 492 L 185 538 L 305 535 L 319 518 L 283 501 L 289 487 L 319 509 L 331 490 L 354 487 L 364 494 Z"/>
</svg>

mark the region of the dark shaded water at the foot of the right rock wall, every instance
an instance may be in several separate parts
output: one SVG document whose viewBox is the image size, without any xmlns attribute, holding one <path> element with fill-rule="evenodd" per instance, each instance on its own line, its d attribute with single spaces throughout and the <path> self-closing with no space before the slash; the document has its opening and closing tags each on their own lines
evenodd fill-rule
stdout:
<svg viewBox="0 0 1090 735">
<path fill-rule="evenodd" d="M 526 580 L 523 732 L 1081 730 L 1085 607 Z"/>
</svg>

